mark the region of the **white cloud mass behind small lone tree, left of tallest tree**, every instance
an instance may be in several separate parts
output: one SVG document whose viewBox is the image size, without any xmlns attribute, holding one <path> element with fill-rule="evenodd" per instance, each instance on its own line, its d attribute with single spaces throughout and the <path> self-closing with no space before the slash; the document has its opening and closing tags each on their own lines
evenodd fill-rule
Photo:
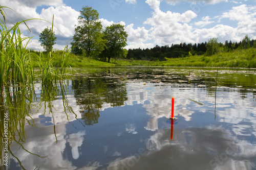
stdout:
<svg viewBox="0 0 256 170">
<path fill-rule="evenodd" d="M 56 45 L 54 48 L 62 49 L 66 43 L 72 38 L 74 35 L 74 26 L 77 24 L 77 18 L 79 16 L 79 12 L 75 11 L 71 7 L 65 6 L 61 0 L 57 1 L 17 1 L 13 0 L 12 3 L 6 0 L 0 0 L 0 4 L 2 6 L 8 6 L 17 13 L 6 9 L 7 20 L 9 22 L 15 23 L 20 21 L 19 16 L 22 19 L 31 19 L 31 18 L 39 18 L 33 19 L 30 21 L 26 21 L 28 27 L 32 30 L 32 33 L 27 29 L 24 24 L 20 25 L 20 30 L 24 33 L 25 36 L 35 38 L 30 41 L 28 47 L 33 48 L 35 50 L 42 50 L 40 43 L 36 40 L 38 39 L 40 33 L 48 26 L 51 27 L 51 22 L 54 14 L 54 29 L 57 38 Z M 46 5 L 51 6 L 46 9 L 42 9 L 40 13 L 36 12 L 37 6 Z M 46 21 L 45 21 L 46 20 Z"/>
</svg>

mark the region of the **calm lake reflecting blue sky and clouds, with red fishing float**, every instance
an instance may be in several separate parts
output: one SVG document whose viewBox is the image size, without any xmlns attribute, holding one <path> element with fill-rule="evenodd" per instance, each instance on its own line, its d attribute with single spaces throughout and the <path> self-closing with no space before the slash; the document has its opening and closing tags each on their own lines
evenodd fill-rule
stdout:
<svg viewBox="0 0 256 170">
<path fill-rule="evenodd" d="M 256 169 L 255 69 L 73 68 L 1 98 L 2 168 Z"/>
</svg>

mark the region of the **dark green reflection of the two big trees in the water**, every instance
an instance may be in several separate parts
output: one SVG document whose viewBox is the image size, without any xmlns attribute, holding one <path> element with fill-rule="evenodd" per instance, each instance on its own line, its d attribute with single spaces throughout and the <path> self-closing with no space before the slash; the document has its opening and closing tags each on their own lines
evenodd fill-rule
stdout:
<svg viewBox="0 0 256 170">
<path fill-rule="evenodd" d="M 99 74 L 95 78 L 73 80 L 74 96 L 86 125 L 98 123 L 103 104 L 122 106 L 127 100 L 125 83 L 118 77 Z"/>
</svg>

